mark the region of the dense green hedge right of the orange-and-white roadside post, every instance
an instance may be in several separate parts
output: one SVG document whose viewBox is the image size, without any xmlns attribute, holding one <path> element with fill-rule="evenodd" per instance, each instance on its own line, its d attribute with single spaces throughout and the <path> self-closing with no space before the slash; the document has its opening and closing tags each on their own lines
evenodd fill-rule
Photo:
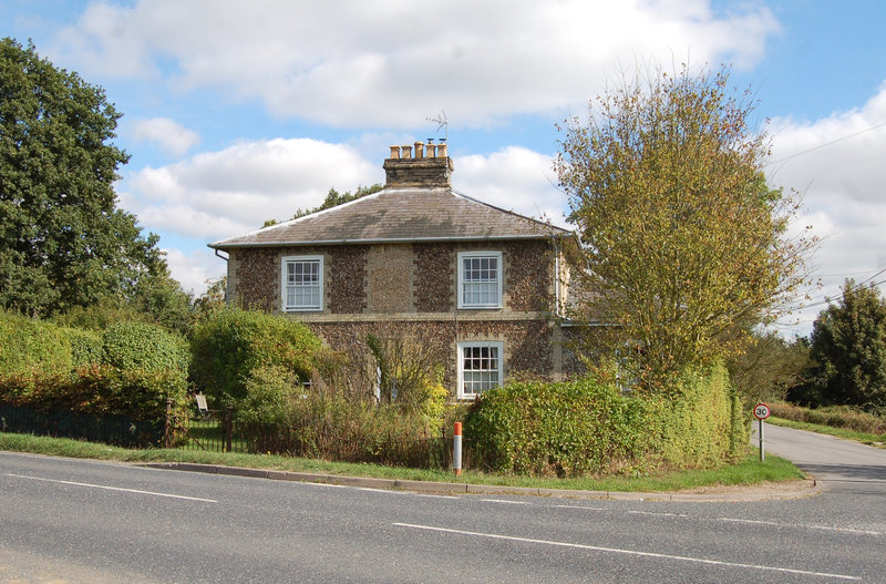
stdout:
<svg viewBox="0 0 886 584">
<path fill-rule="evenodd" d="M 590 377 L 508 383 L 477 398 L 465 436 L 482 464 L 516 474 L 714 467 L 741 452 L 746 424 L 733 413 L 724 368 L 684 375 L 672 393 L 624 393 Z"/>
</svg>

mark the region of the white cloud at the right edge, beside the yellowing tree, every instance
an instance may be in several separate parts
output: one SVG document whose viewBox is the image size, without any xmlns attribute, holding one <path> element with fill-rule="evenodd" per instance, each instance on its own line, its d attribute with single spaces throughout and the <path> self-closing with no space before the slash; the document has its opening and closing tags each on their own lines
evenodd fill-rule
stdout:
<svg viewBox="0 0 886 584">
<path fill-rule="evenodd" d="M 825 297 L 847 277 L 863 281 L 886 267 L 886 84 L 862 107 L 815 122 L 774 120 L 770 182 L 803 194 L 821 246 L 811 260 L 822 287 L 800 313 L 807 334 Z M 874 281 L 886 280 L 884 275 Z M 886 290 L 886 286 L 882 286 Z"/>
</svg>

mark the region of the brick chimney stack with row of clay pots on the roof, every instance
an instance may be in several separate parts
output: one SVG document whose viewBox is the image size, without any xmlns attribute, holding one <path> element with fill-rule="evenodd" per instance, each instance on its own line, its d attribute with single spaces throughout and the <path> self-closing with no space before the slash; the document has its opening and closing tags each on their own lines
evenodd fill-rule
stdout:
<svg viewBox="0 0 886 584">
<path fill-rule="evenodd" d="M 387 175 L 385 188 L 451 187 L 450 177 L 454 166 L 446 151 L 445 142 L 434 145 L 432 140 L 429 140 L 426 147 L 424 142 L 391 146 L 391 157 L 382 166 Z"/>
</svg>

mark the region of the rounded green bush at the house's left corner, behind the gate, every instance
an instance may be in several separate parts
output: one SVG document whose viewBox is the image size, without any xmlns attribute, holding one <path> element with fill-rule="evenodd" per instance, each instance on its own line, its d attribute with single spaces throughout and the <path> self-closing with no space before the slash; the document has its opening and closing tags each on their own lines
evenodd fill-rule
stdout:
<svg viewBox="0 0 886 584">
<path fill-rule="evenodd" d="M 204 315 L 192 337 L 192 376 L 207 396 L 234 404 L 262 367 L 310 379 L 320 339 L 297 320 L 226 307 Z"/>
</svg>

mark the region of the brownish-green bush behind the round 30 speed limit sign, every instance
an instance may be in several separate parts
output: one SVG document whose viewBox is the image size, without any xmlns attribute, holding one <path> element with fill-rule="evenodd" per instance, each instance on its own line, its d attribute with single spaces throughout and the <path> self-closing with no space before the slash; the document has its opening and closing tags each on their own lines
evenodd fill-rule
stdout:
<svg viewBox="0 0 886 584">
<path fill-rule="evenodd" d="M 727 361 L 735 389 L 751 401 L 780 399 L 803 383 L 810 366 L 810 344 L 796 337 L 791 341 L 775 332 L 755 332 L 741 352 Z"/>
</svg>

